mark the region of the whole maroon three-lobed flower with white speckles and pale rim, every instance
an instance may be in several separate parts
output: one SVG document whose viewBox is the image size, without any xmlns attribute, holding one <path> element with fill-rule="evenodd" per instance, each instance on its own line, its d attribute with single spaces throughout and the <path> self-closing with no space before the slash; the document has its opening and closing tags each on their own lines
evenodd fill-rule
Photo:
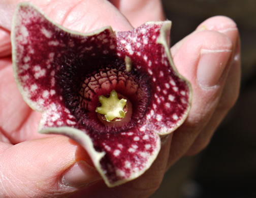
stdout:
<svg viewBox="0 0 256 198">
<path fill-rule="evenodd" d="M 147 22 L 131 31 L 105 27 L 81 34 L 31 4 L 16 10 L 14 75 L 27 104 L 42 112 L 39 133 L 80 143 L 110 187 L 143 174 L 159 152 L 159 136 L 188 114 L 190 85 L 174 67 L 170 27 L 170 21 Z M 124 98 L 124 108 L 122 117 L 106 120 L 97 113 L 99 96 L 112 90 L 115 100 Z"/>
</svg>

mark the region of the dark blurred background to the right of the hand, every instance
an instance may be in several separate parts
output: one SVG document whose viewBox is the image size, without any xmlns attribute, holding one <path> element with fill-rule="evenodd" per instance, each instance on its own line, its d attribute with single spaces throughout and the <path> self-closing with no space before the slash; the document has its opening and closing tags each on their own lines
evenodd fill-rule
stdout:
<svg viewBox="0 0 256 198">
<path fill-rule="evenodd" d="M 256 197 L 256 1 L 163 0 L 172 45 L 205 19 L 232 18 L 240 31 L 242 82 L 236 106 L 201 154 L 180 159 L 150 198 Z"/>
</svg>

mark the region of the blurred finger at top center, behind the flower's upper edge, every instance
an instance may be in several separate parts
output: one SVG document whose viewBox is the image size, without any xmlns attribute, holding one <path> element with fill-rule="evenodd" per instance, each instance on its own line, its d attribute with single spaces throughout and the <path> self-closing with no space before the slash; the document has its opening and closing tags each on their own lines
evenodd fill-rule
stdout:
<svg viewBox="0 0 256 198">
<path fill-rule="evenodd" d="M 110 0 L 109 2 L 118 8 L 134 27 L 138 27 L 147 21 L 166 19 L 161 0 Z"/>
</svg>

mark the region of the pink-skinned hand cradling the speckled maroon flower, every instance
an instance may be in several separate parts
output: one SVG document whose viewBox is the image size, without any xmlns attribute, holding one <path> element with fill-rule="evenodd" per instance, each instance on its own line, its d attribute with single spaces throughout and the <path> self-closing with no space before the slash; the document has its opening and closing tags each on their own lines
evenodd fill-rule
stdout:
<svg viewBox="0 0 256 198">
<path fill-rule="evenodd" d="M 73 1 L 69 7 L 63 1 L 35 4 L 54 21 L 73 30 L 87 32 L 109 24 L 115 30 L 132 28 L 107 1 L 94 1 L 93 4 Z M 6 10 L 4 6 L 2 9 Z M 12 8 L 14 7 L 15 5 Z M 123 13 L 127 12 L 119 9 Z M 96 17 L 92 13 L 105 13 L 106 10 L 106 16 Z M 5 16 L 10 17 L 11 14 Z M 127 14 L 126 16 L 129 17 Z M 90 19 L 89 24 L 83 22 L 85 18 Z M 136 25 L 137 21 L 130 20 Z M 11 24 L 1 19 L 0 24 L 4 27 L 0 33 L 2 38 L 8 38 Z M 8 56 L 10 44 L 4 45 L 7 39 L 0 40 L 0 45 L 3 43 L 2 46 L 5 47 L 1 48 L 5 49 L 5 53 L 0 53 L 0 109 L 4 110 L 0 115 L 0 195 L 3 193 L 3 196 L 7 197 L 63 197 L 73 194 L 74 197 L 83 197 L 86 194 L 88 197 L 148 197 L 153 193 L 171 164 L 185 153 L 194 154 L 204 148 L 238 95 L 240 61 L 237 54 L 239 44 L 236 25 L 225 17 L 211 18 L 199 28 L 203 25 L 204 29 L 208 30 L 194 32 L 172 48 L 176 67 L 193 85 L 193 104 L 187 120 L 169 136 L 152 167 L 144 175 L 114 188 L 105 186 L 101 177 L 90 166 L 86 152 L 74 141 L 62 136 L 39 139 L 45 137 L 37 134 L 40 114 L 31 111 L 23 102 L 12 75 L 11 59 Z M 202 67 L 210 65 L 211 68 L 198 69 L 199 59 L 203 58 L 200 57 L 201 49 L 212 52 L 206 57 L 207 64 L 201 64 Z M 233 61 L 235 55 L 236 60 Z M 229 61 L 226 63 L 225 59 Z M 214 60 L 218 62 L 213 62 Z M 220 65 L 220 62 L 223 64 Z M 210 75 L 207 76 L 208 70 Z M 223 75 L 218 75 L 221 71 L 224 71 Z M 202 74 L 207 78 L 199 80 L 198 76 Z M 221 79 L 218 81 L 220 75 Z M 81 160 L 86 161 L 88 166 Z M 78 166 L 75 164 L 77 161 L 80 161 Z M 68 173 L 66 170 L 69 170 L 69 167 L 73 168 Z M 60 183 L 63 173 L 66 172 L 69 174 L 66 175 L 66 182 L 73 187 Z"/>
</svg>

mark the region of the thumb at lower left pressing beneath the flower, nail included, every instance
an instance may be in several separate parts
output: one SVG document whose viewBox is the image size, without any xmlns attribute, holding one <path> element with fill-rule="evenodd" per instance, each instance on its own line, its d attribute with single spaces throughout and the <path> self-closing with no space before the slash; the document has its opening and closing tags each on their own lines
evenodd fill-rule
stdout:
<svg viewBox="0 0 256 198">
<path fill-rule="evenodd" d="M 0 197 L 63 197 L 101 180 L 86 152 L 67 137 L 0 143 L 0 149 Z"/>
</svg>

